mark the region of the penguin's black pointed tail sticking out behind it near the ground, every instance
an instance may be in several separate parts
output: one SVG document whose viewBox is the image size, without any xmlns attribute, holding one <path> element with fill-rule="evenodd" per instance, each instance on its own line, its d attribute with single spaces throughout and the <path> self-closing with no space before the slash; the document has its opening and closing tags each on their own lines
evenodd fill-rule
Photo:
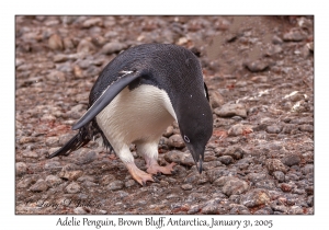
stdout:
<svg viewBox="0 0 329 230">
<path fill-rule="evenodd" d="M 54 158 L 56 156 L 68 156 L 70 152 L 79 149 L 90 141 L 90 137 L 83 135 L 81 131 L 72 137 L 64 147 L 58 149 L 56 152 L 47 156 L 47 158 Z"/>
</svg>

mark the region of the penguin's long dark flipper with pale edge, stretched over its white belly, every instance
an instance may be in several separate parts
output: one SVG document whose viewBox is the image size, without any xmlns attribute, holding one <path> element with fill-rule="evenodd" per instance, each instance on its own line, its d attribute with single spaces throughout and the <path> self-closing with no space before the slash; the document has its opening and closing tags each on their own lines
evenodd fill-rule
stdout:
<svg viewBox="0 0 329 230">
<path fill-rule="evenodd" d="M 124 73 L 113 81 L 102 93 L 102 95 L 90 106 L 86 114 L 73 125 L 72 129 L 79 129 L 92 120 L 129 83 L 140 78 L 143 72 L 122 71 Z"/>
</svg>

